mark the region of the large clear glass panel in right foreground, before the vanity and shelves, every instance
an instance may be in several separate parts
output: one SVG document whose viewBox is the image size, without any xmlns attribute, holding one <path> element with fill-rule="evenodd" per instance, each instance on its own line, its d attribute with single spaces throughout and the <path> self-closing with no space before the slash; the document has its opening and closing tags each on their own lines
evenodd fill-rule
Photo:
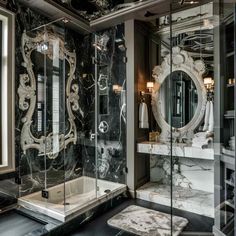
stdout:
<svg viewBox="0 0 236 236">
<path fill-rule="evenodd" d="M 172 214 L 187 232 L 234 235 L 235 4 L 171 9 Z"/>
</svg>

